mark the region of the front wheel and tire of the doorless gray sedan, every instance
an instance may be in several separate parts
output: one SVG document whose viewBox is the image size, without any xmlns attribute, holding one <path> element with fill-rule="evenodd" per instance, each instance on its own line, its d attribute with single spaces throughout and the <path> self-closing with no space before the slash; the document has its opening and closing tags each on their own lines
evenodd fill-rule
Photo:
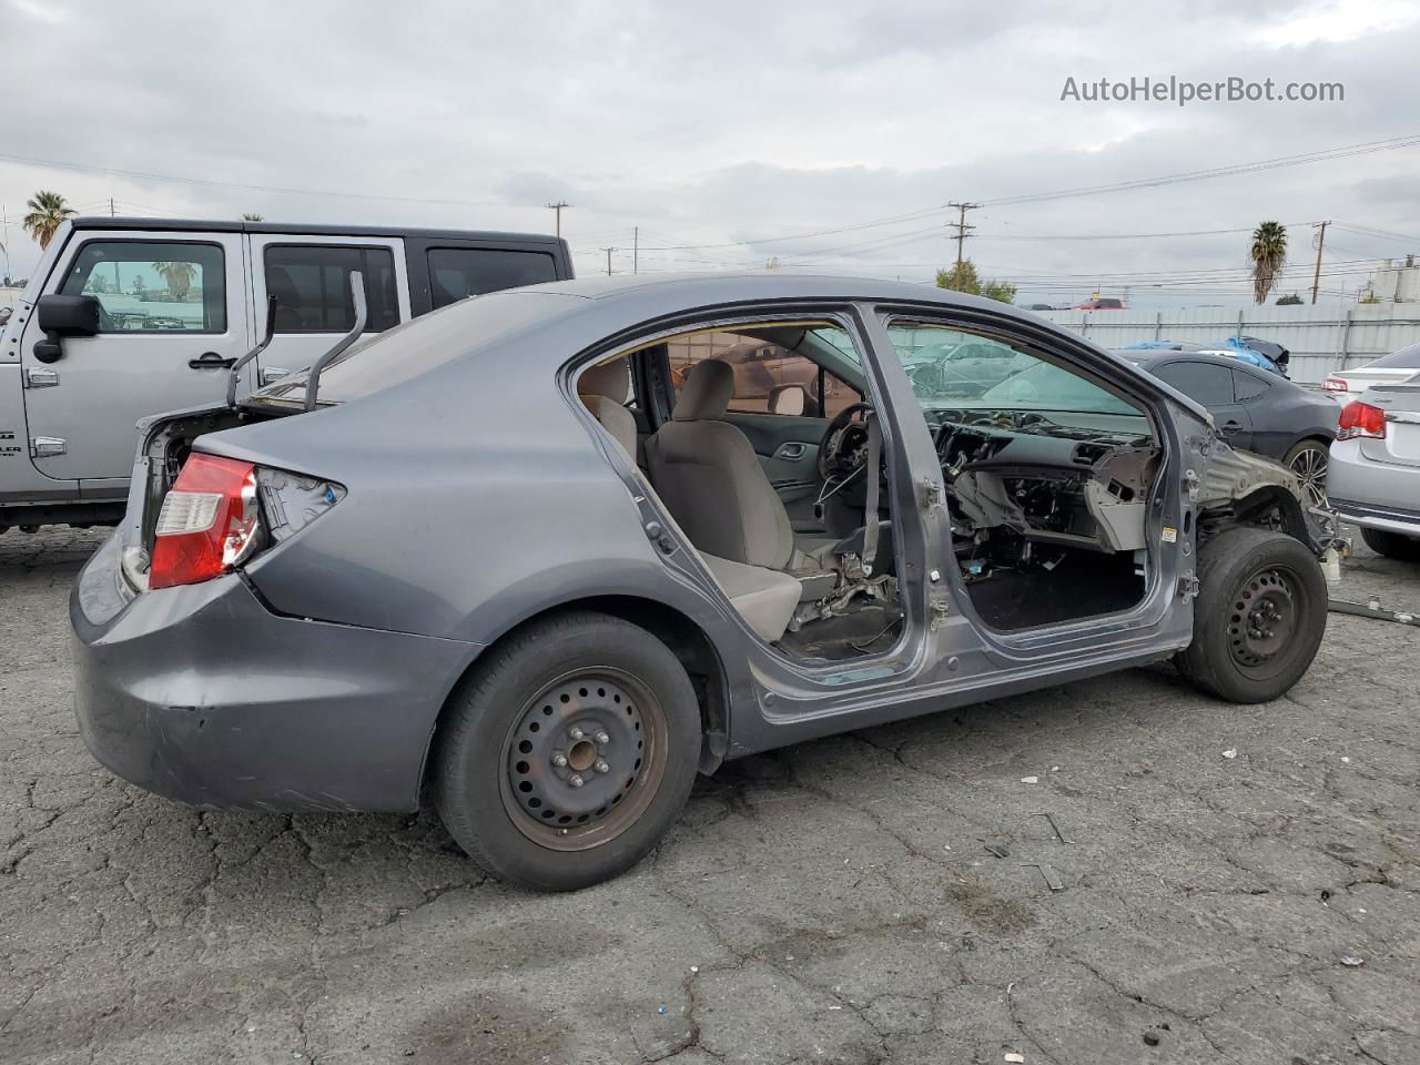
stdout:
<svg viewBox="0 0 1420 1065">
<path fill-rule="evenodd" d="M 1326 578 L 1298 540 L 1230 528 L 1198 551 L 1193 643 L 1179 672 L 1230 703 L 1278 699 L 1311 667 L 1326 632 Z"/>
</svg>

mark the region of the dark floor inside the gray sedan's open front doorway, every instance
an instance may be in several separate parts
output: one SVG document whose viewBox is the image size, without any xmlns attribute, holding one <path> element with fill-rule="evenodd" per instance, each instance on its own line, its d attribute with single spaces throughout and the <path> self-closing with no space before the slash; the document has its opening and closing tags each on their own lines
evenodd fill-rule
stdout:
<svg viewBox="0 0 1420 1065">
<path fill-rule="evenodd" d="M 967 575 L 967 594 L 981 621 L 1012 632 L 1126 611 L 1145 595 L 1130 554 L 1061 548 L 1044 559 Z M 1049 562 L 1049 568 L 1047 568 Z"/>
</svg>

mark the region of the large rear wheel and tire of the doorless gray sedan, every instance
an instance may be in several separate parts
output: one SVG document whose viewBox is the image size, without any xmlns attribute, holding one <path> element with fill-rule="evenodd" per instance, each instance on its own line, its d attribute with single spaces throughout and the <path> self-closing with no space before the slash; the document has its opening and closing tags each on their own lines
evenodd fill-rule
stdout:
<svg viewBox="0 0 1420 1065">
<path fill-rule="evenodd" d="M 690 795 L 700 740 L 694 689 L 665 643 L 604 613 L 558 615 L 514 632 L 452 696 L 435 804 L 500 880 L 577 890 L 629 869 L 665 835 Z M 574 788 L 574 775 L 585 782 Z"/>
</svg>

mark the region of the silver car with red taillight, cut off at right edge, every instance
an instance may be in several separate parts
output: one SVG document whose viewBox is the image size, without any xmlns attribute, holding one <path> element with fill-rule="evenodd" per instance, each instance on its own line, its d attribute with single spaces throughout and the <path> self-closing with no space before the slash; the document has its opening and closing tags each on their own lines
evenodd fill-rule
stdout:
<svg viewBox="0 0 1420 1065">
<path fill-rule="evenodd" d="M 1372 550 L 1420 561 L 1420 373 L 1342 408 L 1328 496 Z"/>
</svg>

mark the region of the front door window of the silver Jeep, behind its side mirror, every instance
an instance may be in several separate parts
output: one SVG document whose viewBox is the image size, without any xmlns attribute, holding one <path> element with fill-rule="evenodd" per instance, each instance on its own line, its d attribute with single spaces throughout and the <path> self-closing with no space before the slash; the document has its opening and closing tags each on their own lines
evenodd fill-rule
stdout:
<svg viewBox="0 0 1420 1065">
<path fill-rule="evenodd" d="M 61 295 L 92 295 L 101 332 L 226 332 L 226 270 L 219 244 L 89 240 Z"/>
</svg>

